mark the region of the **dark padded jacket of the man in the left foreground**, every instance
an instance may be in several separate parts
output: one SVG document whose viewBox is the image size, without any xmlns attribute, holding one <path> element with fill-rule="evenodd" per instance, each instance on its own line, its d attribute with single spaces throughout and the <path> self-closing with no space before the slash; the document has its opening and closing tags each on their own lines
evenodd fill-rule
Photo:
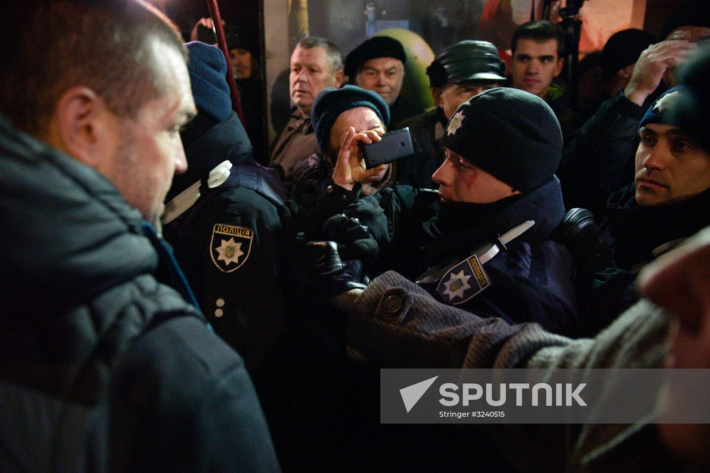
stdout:
<svg viewBox="0 0 710 473">
<path fill-rule="evenodd" d="M 278 469 L 241 357 L 155 281 L 141 215 L 0 119 L 0 469 Z"/>
</svg>

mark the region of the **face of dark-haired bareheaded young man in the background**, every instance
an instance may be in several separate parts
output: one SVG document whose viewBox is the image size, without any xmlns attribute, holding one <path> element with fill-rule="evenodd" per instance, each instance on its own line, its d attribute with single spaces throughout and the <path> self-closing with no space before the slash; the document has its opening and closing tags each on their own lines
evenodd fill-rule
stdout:
<svg viewBox="0 0 710 473">
<path fill-rule="evenodd" d="M 518 40 L 510 70 L 513 87 L 545 98 L 547 87 L 562 72 L 564 59 L 557 57 L 557 40 Z"/>
</svg>

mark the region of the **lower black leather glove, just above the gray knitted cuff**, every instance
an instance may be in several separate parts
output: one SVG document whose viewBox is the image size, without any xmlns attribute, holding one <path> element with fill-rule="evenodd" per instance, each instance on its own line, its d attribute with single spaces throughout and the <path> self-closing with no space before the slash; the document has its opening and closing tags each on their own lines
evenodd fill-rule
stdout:
<svg viewBox="0 0 710 473">
<path fill-rule="evenodd" d="M 305 246 L 305 267 L 297 278 L 304 294 L 330 298 L 351 289 L 364 289 L 360 261 L 342 261 L 334 241 L 309 241 Z"/>
</svg>

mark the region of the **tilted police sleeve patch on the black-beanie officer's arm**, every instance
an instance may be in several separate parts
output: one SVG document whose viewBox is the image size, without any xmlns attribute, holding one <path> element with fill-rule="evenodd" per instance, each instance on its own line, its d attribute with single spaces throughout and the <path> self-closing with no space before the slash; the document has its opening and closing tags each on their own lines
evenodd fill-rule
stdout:
<svg viewBox="0 0 710 473">
<path fill-rule="evenodd" d="M 447 271 L 439 280 L 437 294 L 445 303 L 459 305 L 491 286 L 484 267 L 476 254 Z"/>
</svg>

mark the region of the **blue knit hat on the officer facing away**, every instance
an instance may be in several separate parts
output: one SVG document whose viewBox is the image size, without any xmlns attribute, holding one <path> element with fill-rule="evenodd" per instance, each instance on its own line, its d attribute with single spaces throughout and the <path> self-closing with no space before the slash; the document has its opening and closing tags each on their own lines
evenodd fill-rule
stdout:
<svg viewBox="0 0 710 473">
<path fill-rule="evenodd" d="M 217 121 L 231 115 L 231 95 L 226 83 L 226 60 L 219 48 L 192 41 L 187 43 L 187 72 L 195 105 Z"/>
</svg>

